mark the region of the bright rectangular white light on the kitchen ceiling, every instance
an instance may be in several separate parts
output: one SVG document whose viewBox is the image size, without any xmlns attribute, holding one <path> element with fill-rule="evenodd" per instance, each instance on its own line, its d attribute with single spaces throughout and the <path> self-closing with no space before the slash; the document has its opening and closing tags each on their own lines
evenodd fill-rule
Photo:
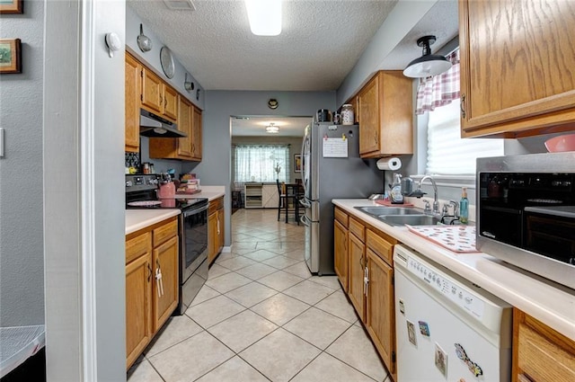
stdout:
<svg viewBox="0 0 575 382">
<path fill-rule="evenodd" d="M 281 0 L 245 0 L 250 29 L 257 36 L 281 33 Z"/>
</svg>

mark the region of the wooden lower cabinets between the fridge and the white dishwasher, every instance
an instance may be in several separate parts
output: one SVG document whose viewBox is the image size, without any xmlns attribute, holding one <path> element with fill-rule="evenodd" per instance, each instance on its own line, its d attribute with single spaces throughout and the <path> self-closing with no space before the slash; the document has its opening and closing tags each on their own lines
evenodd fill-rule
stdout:
<svg viewBox="0 0 575 382">
<path fill-rule="evenodd" d="M 336 273 L 385 368 L 396 379 L 393 255 L 397 241 L 341 209 L 336 208 L 334 216 Z"/>
</svg>

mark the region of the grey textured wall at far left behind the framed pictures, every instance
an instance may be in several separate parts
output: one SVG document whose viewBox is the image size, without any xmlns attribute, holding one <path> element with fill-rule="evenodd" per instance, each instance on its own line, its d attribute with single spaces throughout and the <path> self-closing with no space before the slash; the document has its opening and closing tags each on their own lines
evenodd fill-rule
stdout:
<svg viewBox="0 0 575 382">
<path fill-rule="evenodd" d="M 2 38 L 22 40 L 22 74 L 0 76 L 0 326 L 44 324 L 42 54 L 44 4 L 3 14 Z"/>
</svg>

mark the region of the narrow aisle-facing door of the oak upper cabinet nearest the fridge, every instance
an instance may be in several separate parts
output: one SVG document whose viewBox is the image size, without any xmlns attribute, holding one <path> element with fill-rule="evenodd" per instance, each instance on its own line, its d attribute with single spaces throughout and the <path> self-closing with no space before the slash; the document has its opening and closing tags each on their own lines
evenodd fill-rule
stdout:
<svg viewBox="0 0 575 382">
<path fill-rule="evenodd" d="M 359 154 L 379 150 L 379 81 L 377 76 L 358 94 Z"/>
</svg>

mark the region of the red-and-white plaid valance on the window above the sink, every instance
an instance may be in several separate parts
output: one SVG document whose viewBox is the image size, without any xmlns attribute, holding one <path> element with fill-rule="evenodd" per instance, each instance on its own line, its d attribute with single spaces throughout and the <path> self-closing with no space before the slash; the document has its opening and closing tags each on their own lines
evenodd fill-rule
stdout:
<svg viewBox="0 0 575 382">
<path fill-rule="evenodd" d="M 417 88 L 416 114 L 433 111 L 460 98 L 459 94 L 459 48 L 446 56 L 453 65 L 438 76 L 421 78 Z"/>
</svg>

